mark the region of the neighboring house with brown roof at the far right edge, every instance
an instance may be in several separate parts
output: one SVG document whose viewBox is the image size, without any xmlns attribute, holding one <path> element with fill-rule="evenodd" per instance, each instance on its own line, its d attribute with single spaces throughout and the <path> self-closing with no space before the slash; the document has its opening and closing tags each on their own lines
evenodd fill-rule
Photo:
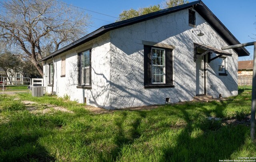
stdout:
<svg viewBox="0 0 256 162">
<path fill-rule="evenodd" d="M 253 60 L 238 61 L 238 76 L 252 76 Z"/>
</svg>

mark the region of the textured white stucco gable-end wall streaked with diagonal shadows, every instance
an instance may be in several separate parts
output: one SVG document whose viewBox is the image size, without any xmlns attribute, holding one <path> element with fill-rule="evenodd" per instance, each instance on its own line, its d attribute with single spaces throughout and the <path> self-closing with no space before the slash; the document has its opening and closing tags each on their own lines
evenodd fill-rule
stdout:
<svg viewBox="0 0 256 162">
<path fill-rule="evenodd" d="M 201 30 L 204 36 L 198 37 Z M 153 41 L 174 45 L 174 88 L 144 89 L 144 45 L 142 41 Z M 111 108 L 136 107 L 190 101 L 196 95 L 196 63 L 194 42 L 221 48 L 226 46 L 222 38 L 196 12 L 196 28 L 188 26 L 188 10 L 182 10 L 110 32 L 110 104 Z M 237 95 L 237 59 L 233 53 L 227 60 L 228 76 L 206 72 L 207 92 L 214 97 Z M 208 67 L 214 65 L 212 61 Z M 209 83 L 214 88 L 209 89 Z"/>
</svg>

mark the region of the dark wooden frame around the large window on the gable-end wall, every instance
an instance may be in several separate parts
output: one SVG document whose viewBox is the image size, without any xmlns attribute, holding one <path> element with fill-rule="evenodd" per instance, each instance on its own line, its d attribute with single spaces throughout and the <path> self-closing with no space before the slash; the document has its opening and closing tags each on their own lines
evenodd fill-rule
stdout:
<svg viewBox="0 0 256 162">
<path fill-rule="evenodd" d="M 152 83 L 152 48 L 164 49 L 164 83 Z M 144 88 L 168 88 L 173 85 L 173 49 L 144 45 Z"/>
</svg>

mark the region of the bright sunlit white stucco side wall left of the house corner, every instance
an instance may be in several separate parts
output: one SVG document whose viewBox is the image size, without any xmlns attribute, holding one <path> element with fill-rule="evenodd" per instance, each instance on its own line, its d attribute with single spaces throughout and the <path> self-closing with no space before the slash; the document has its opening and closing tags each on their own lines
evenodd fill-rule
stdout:
<svg viewBox="0 0 256 162">
<path fill-rule="evenodd" d="M 68 95 L 71 100 L 78 101 L 79 103 L 84 103 L 84 97 L 86 97 L 86 103 L 88 105 L 110 109 L 109 42 L 109 33 L 106 33 L 99 38 L 54 57 L 55 74 L 53 91 L 56 92 L 56 95 L 60 97 Z M 92 89 L 79 89 L 76 87 L 78 85 L 78 52 L 90 48 L 92 48 Z M 66 77 L 60 77 L 62 57 L 66 57 Z M 49 63 L 52 63 L 52 59 L 47 60 L 44 66 L 44 83 L 46 83 L 47 93 L 52 91 L 52 87 L 47 86 L 49 84 Z"/>
</svg>

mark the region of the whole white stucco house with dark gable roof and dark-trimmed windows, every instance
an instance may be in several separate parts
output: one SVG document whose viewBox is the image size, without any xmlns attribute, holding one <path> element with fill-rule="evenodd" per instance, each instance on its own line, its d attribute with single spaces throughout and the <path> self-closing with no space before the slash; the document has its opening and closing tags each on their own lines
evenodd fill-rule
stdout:
<svg viewBox="0 0 256 162">
<path fill-rule="evenodd" d="M 238 56 L 249 52 L 221 47 L 239 43 L 195 1 L 102 26 L 38 62 L 48 93 L 54 77 L 58 96 L 120 109 L 237 95 Z"/>
</svg>

